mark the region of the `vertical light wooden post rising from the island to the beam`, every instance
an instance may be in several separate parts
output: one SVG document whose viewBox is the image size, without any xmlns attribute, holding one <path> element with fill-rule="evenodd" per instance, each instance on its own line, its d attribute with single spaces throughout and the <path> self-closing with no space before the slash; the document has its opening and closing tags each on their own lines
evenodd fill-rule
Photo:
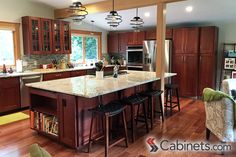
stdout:
<svg viewBox="0 0 236 157">
<path fill-rule="evenodd" d="M 166 32 L 166 3 L 157 4 L 157 49 L 156 76 L 159 77 L 159 89 L 164 90 L 165 80 L 165 32 Z"/>
</svg>

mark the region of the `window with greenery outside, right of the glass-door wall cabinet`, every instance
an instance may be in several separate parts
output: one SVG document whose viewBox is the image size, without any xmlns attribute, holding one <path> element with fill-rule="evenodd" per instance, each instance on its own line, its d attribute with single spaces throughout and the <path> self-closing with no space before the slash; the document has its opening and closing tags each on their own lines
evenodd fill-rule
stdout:
<svg viewBox="0 0 236 157">
<path fill-rule="evenodd" d="M 73 63 L 89 63 L 97 61 L 101 56 L 101 33 L 87 31 L 72 31 L 72 53 L 70 61 Z"/>
</svg>

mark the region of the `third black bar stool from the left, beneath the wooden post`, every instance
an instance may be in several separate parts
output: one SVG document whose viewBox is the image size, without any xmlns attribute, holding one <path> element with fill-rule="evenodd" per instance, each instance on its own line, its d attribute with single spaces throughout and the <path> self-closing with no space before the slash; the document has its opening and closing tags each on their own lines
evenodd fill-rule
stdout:
<svg viewBox="0 0 236 157">
<path fill-rule="evenodd" d="M 154 121 L 154 117 L 155 117 L 155 113 L 160 113 L 161 114 L 161 119 L 162 121 L 164 121 L 164 114 L 163 114 L 163 107 L 162 107 L 162 98 L 161 98 L 161 94 L 163 93 L 162 90 L 149 90 L 146 91 L 144 93 L 142 93 L 142 95 L 148 97 L 148 114 L 150 115 L 150 120 L 151 120 L 151 129 L 153 129 L 153 121 Z M 157 100 L 159 99 L 160 102 L 160 111 L 156 110 L 158 101 L 156 100 L 156 105 L 153 106 L 153 97 L 156 97 Z"/>
</svg>

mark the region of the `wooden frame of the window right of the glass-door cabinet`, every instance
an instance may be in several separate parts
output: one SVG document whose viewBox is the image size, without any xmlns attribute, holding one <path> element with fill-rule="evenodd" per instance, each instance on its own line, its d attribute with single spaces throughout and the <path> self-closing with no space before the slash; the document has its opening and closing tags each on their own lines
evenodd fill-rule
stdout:
<svg viewBox="0 0 236 157">
<path fill-rule="evenodd" d="M 92 34 L 91 34 L 92 33 Z M 78 36 L 83 36 L 83 64 L 85 64 L 86 52 L 85 52 L 85 38 L 84 36 L 95 36 L 98 38 L 98 59 L 102 57 L 102 32 L 84 31 L 84 30 L 71 30 L 71 36 L 75 34 Z M 70 61 L 70 55 L 68 55 Z"/>
</svg>

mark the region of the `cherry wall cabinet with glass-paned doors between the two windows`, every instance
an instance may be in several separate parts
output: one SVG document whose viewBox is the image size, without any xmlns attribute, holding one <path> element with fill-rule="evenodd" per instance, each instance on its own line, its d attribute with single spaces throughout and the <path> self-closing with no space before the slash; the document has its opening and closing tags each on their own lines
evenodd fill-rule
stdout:
<svg viewBox="0 0 236 157">
<path fill-rule="evenodd" d="M 25 54 L 70 53 L 68 22 L 37 17 L 22 17 Z"/>
</svg>

